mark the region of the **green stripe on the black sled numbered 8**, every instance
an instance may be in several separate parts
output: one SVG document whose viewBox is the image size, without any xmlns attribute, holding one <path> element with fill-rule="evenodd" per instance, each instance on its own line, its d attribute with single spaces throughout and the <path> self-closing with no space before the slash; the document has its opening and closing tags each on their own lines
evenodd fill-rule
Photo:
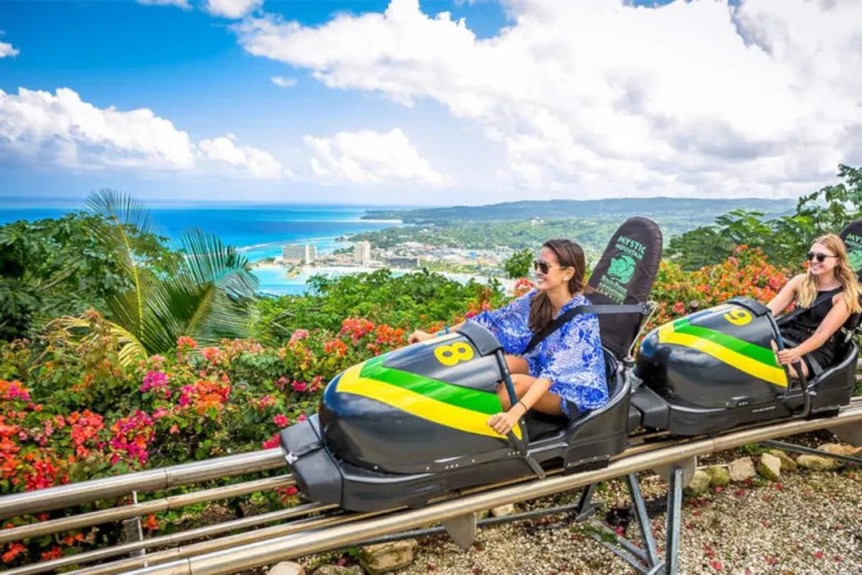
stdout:
<svg viewBox="0 0 862 575">
<path fill-rule="evenodd" d="M 360 371 L 362 377 L 377 380 L 397 385 L 402 390 L 410 390 L 425 397 L 448 403 L 473 412 L 480 412 L 487 415 L 500 413 L 503 407 L 500 404 L 500 397 L 496 393 L 471 390 L 460 385 L 432 380 L 424 375 L 409 373 L 406 371 L 386 368 L 383 358 L 378 355 L 368 360 Z"/>
</svg>

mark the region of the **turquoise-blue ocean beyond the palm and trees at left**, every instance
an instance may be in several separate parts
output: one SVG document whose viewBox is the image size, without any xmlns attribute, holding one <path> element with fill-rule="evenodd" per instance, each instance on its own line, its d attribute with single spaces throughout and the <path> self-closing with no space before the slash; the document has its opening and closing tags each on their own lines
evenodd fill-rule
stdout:
<svg viewBox="0 0 862 575">
<path fill-rule="evenodd" d="M 375 206 L 382 207 L 382 206 Z M 74 207 L 0 204 L 0 225 L 17 220 L 59 217 Z M 285 244 L 313 244 L 318 253 L 332 253 L 349 243 L 343 235 L 400 225 L 399 221 L 361 220 L 362 206 L 333 205 L 219 205 L 151 207 L 156 233 L 170 239 L 199 227 L 236 246 L 250 262 L 281 255 Z M 308 274 L 287 278 L 278 268 L 254 270 L 260 289 L 266 294 L 303 294 Z"/>
</svg>

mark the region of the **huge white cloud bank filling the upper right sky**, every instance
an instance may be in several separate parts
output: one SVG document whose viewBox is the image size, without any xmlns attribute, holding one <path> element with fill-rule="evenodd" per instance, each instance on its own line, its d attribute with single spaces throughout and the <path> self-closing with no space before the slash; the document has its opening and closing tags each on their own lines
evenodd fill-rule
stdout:
<svg viewBox="0 0 862 575">
<path fill-rule="evenodd" d="M 503 150 L 501 178 L 532 191 L 795 195 L 862 162 L 860 0 L 506 3 L 512 24 L 486 40 L 418 0 L 234 30 L 326 86 L 441 103 Z"/>
</svg>

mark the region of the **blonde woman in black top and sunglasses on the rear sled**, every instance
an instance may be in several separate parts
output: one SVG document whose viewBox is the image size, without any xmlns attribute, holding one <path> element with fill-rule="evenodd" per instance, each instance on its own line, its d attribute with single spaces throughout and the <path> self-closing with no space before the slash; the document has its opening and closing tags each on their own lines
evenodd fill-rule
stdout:
<svg viewBox="0 0 862 575">
<path fill-rule="evenodd" d="M 799 308 L 807 308 L 781 326 L 782 338 L 796 345 L 776 352 L 778 362 L 788 365 L 792 377 L 798 377 L 792 364 L 800 358 L 805 360 L 802 372 L 806 376 L 814 372 L 813 363 L 821 370 L 828 369 L 838 344 L 833 336 L 852 313 L 862 311 L 856 273 L 850 266 L 841 237 L 835 234 L 818 237 L 808 252 L 808 270 L 788 281 L 767 304 L 772 316 L 787 309 L 791 301 Z"/>
</svg>

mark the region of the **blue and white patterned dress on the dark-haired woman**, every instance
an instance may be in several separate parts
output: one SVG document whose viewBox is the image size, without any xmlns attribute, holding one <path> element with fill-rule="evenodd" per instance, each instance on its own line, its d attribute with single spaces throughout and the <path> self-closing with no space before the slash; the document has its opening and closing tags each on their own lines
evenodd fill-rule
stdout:
<svg viewBox="0 0 862 575">
<path fill-rule="evenodd" d="M 533 339 L 529 305 L 536 294 L 538 290 L 533 289 L 505 307 L 483 311 L 467 321 L 491 330 L 506 353 L 527 360 L 532 376 L 549 380 L 549 391 L 561 397 L 560 408 L 568 417 L 577 416 L 569 402 L 580 413 L 603 406 L 608 403 L 608 381 L 599 319 L 595 313 L 575 316 L 524 355 Z M 589 300 L 579 294 L 563 306 L 557 316 L 574 307 L 589 305 Z"/>
</svg>

